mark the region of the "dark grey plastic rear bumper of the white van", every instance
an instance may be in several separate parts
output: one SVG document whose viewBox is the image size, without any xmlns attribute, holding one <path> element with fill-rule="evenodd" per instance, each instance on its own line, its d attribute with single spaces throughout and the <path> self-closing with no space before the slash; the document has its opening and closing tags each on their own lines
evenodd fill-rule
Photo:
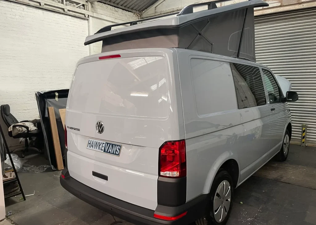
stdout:
<svg viewBox="0 0 316 225">
<path fill-rule="evenodd" d="M 190 224 L 203 216 L 207 202 L 207 195 L 204 194 L 177 207 L 158 205 L 156 210 L 153 211 L 88 187 L 72 178 L 67 169 L 64 169 L 62 174 L 65 178 L 60 178 L 60 184 L 77 198 L 137 225 Z M 187 214 L 184 217 L 174 221 L 166 221 L 154 217 L 154 213 L 162 216 L 178 216 L 186 211 Z"/>
</svg>

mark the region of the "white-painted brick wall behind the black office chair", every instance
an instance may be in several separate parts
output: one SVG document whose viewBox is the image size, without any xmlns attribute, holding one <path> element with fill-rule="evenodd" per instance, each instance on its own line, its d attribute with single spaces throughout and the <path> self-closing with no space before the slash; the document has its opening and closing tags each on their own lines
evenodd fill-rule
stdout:
<svg viewBox="0 0 316 225">
<path fill-rule="evenodd" d="M 88 21 L 6 1 L 0 12 L 0 105 L 19 121 L 38 118 L 35 91 L 69 88 L 77 61 L 89 54 Z"/>
</svg>

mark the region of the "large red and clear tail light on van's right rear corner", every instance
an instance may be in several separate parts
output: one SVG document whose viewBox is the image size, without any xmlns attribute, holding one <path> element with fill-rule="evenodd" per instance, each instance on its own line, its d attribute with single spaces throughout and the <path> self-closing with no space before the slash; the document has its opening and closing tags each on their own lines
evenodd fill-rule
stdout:
<svg viewBox="0 0 316 225">
<path fill-rule="evenodd" d="M 168 141 L 160 147 L 160 176 L 186 176 L 185 140 Z"/>
</svg>

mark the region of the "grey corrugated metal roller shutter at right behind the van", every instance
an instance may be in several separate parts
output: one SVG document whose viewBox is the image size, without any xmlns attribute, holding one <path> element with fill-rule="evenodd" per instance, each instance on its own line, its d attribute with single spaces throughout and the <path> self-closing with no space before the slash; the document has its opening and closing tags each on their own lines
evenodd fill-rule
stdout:
<svg viewBox="0 0 316 225">
<path fill-rule="evenodd" d="M 307 142 L 316 143 L 316 9 L 255 17 L 255 44 L 257 61 L 289 79 L 299 94 L 289 103 L 292 140 L 301 140 L 301 124 L 307 124 Z"/>
</svg>

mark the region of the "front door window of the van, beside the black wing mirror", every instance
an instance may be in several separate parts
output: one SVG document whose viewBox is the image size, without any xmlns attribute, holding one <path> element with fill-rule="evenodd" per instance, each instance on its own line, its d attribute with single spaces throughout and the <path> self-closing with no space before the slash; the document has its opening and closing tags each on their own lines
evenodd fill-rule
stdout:
<svg viewBox="0 0 316 225">
<path fill-rule="evenodd" d="M 263 79 L 265 87 L 267 88 L 267 92 L 269 95 L 269 101 L 270 103 L 277 103 L 280 102 L 280 90 L 279 87 L 276 84 L 276 80 L 273 78 L 272 73 L 270 71 L 267 71 L 265 69 L 262 69 L 263 73 Z"/>
</svg>

